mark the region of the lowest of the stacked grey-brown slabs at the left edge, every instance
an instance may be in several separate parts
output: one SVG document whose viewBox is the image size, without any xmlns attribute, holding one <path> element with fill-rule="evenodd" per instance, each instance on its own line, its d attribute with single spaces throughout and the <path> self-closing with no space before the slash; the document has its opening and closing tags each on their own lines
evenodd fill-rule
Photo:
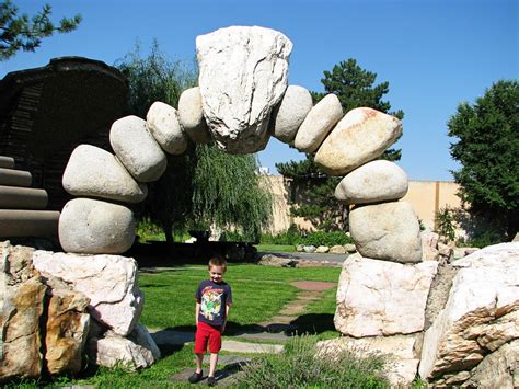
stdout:
<svg viewBox="0 0 519 389">
<path fill-rule="evenodd" d="M 56 237 L 59 211 L 0 209 L 0 237 Z"/>
</svg>

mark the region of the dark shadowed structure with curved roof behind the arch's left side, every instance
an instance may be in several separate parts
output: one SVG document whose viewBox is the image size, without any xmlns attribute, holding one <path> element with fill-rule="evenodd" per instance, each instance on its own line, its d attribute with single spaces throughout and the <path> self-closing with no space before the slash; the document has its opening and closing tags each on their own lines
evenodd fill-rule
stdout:
<svg viewBox="0 0 519 389">
<path fill-rule="evenodd" d="M 116 68 L 82 57 L 54 58 L 0 81 L 0 155 L 30 171 L 48 193 L 48 209 L 70 196 L 61 176 L 80 144 L 109 150 L 112 123 L 125 115 L 128 85 Z"/>
</svg>

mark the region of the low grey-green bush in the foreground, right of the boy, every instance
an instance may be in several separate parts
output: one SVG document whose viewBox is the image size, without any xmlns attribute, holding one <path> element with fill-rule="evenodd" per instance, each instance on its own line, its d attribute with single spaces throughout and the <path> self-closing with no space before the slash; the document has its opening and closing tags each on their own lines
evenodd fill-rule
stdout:
<svg viewBox="0 0 519 389">
<path fill-rule="evenodd" d="M 355 355 L 345 351 L 316 357 L 315 341 L 296 336 L 281 354 L 254 358 L 243 367 L 239 385 L 247 388 L 388 388 L 381 356 Z"/>
</svg>

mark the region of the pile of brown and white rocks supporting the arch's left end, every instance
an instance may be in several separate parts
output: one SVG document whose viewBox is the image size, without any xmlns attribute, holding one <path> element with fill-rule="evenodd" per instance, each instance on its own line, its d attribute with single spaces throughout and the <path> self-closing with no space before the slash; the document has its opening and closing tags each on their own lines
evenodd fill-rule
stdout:
<svg viewBox="0 0 519 389">
<path fill-rule="evenodd" d="M 138 324 L 142 293 L 134 260 L 0 243 L 0 382 L 77 374 L 89 361 L 150 366 L 160 351 Z"/>
</svg>

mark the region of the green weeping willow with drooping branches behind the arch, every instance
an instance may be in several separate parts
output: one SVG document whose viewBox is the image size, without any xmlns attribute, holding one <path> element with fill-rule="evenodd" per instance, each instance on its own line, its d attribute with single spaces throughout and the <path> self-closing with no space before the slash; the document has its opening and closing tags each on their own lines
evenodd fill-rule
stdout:
<svg viewBox="0 0 519 389">
<path fill-rule="evenodd" d="M 142 118 L 155 101 L 177 107 L 182 92 L 197 82 L 196 65 L 170 60 L 157 42 L 148 55 L 136 45 L 116 66 L 128 79 L 128 114 Z M 272 218 L 272 195 L 256 171 L 253 155 L 231 156 L 214 145 L 191 144 L 182 156 L 168 156 L 164 174 L 149 184 L 136 213 L 160 226 L 170 244 L 173 230 L 210 226 L 257 240 Z"/>
</svg>

